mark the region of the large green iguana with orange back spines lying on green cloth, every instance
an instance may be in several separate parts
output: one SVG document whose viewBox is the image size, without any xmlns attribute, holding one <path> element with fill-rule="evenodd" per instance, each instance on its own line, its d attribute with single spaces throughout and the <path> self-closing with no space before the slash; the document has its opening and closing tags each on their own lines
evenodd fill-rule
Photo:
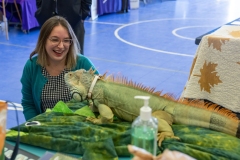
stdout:
<svg viewBox="0 0 240 160">
<path fill-rule="evenodd" d="M 139 116 L 140 108 L 143 106 L 143 102 L 134 99 L 134 96 L 141 95 L 150 96 L 149 106 L 159 122 L 159 145 L 165 137 L 179 139 L 174 136 L 172 123 L 209 128 L 240 137 L 239 120 L 231 111 L 219 109 L 214 104 L 209 106 L 201 101 L 173 100 L 171 96 L 162 96 L 161 92 L 154 92 L 154 89 L 133 83 L 126 78 L 103 75 L 97 80 L 89 97 L 89 89 L 95 76 L 91 69 L 89 71 L 81 69 L 65 75 L 72 98 L 77 101 L 87 99 L 93 102 L 99 111 L 99 118 L 87 118 L 93 123 L 112 122 L 113 115 L 132 122 Z"/>
</svg>

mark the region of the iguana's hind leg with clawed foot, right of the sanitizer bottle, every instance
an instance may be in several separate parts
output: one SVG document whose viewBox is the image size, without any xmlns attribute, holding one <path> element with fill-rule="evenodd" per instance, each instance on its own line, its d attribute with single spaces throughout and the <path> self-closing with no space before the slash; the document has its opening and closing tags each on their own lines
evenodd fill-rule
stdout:
<svg viewBox="0 0 240 160">
<path fill-rule="evenodd" d="M 155 118 L 158 119 L 158 134 L 157 134 L 157 140 L 158 145 L 161 146 L 162 141 L 166 138 L 174 138 L 177 140 L 180 140 L 179 137 L 174 136 L 173 130 L 172 130 L 172 123 L 173 118 L 172 115 L 165 112 L 165 111 L 155 111 L 152 114 Z"/>
</svg>

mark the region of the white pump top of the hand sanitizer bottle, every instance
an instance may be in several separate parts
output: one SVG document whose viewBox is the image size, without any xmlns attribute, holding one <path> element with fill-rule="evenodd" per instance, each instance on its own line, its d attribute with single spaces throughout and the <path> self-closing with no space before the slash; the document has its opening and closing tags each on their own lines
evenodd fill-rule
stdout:
<svg viewBox="0 0 240 160">
<path fill-rule="evenodd" d="M 144 106 L 140 109 L 140 119 L 148 121 L 152 117 L 152 109 L 148 106 L 149 96 L 135 96 L 135 99 L 143 99 Z"/>
</svg>

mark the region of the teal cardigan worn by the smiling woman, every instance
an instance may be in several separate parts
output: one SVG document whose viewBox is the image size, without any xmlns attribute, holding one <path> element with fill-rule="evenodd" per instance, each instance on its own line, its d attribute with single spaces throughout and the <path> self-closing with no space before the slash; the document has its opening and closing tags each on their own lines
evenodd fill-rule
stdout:
<svg viewBox="0 0 240 160">
<path fill-rule="evenodd" d="M 21 78 L 22 83 L 22 106 L 26 120 L 42 113 L 41 94 L 48 79 L 42 75 L 42 67 L 37 64 L 37 56 L 28 60 L 24 66 Z M 72 71 L 78 69 L 95 69 L 92 62 L 83 55 L 77 55 L 77 65 Z M 95 72 L 99 74 L 98 71 Z"/>
</svg>

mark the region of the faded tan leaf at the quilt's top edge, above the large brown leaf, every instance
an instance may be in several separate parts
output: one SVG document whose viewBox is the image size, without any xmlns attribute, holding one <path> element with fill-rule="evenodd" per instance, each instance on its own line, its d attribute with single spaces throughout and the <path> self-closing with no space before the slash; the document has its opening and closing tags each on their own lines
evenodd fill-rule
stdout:
<svg viewBox="0 0 240 160">
<path fill-rule="evenodd" d="M 213 45 L 213 49 L 216 49 L 221 52 L 222 45 L 225 44 L 226 41 L 229 41 L 230 38 L 220 38 L 220 37 L 208 37 L 208 47 Z"/>
</svg>

